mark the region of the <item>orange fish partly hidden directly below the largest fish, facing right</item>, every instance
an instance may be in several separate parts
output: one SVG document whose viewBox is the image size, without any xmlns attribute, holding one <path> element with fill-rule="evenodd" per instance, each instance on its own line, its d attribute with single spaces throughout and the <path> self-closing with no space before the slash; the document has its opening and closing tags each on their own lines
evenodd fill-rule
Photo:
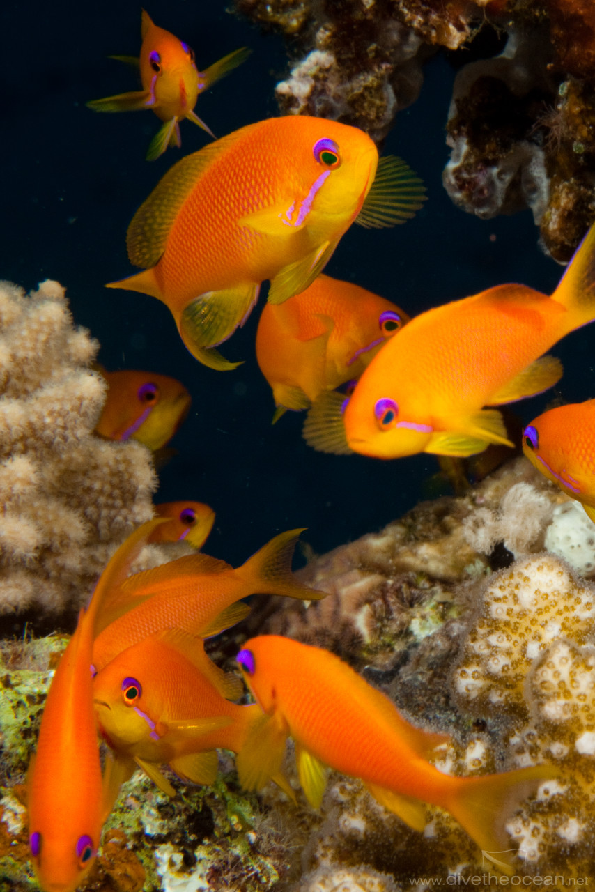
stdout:
<svg viewBox="0 0 595 892">
<path fill-rule="evenodd" d="M 266 303 L 256 359 L 277 411 L 308 409 L 318 394 L 359 378 L 386 338 L 409 320 L 396 304 L 359 285 L 320 275 L 285 303 Z"/>
</svg>

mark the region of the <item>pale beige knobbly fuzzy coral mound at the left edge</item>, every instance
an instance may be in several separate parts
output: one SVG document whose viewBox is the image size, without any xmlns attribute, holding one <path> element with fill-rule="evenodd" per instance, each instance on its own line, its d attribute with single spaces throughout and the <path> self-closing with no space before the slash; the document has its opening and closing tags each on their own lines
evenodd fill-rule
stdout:
<svg viewBox="0 0 595 892">
<path fill-rule="evenodd" d="M 0 287 L 0 613 L 84 604 L 114 544 L 153 515 L 148 450 L 93 434 L 97 343 L 64 290 Z"/>
</svg>

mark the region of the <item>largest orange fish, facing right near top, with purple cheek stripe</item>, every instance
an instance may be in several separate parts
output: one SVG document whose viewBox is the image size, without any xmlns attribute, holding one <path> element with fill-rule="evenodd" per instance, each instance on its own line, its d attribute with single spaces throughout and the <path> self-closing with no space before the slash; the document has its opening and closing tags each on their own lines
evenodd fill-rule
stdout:
<svg viewBox="0 0 595 892">
<path fill-rule="evenodd" d="M 264 279 L 272 303 L 299 294 L 354 220 L 393 226 L 423 199 L 407 165 L 378 164 L 358 128 L 305 115 L 262 120 L 169 170 L 128 227 L 128 257 L 144 272 L 108 287 L 163 301 L 196 359 L 235 368 L 213 348 L 242 325 Z"/>
</svg>

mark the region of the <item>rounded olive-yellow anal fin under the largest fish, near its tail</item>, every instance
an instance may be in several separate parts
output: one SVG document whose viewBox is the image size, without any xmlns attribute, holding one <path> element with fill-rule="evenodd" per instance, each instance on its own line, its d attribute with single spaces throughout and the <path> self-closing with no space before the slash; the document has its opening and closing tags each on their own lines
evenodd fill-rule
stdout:
<svg viewBox="0 0 595 892">
<path fill-rule="evenodd" d="M 259 285 L 243 282 L 224 291 L 208 291 L 190 301 L 178 321 L 187 349 L 194 355 L 194 348 L 216 347 L 227 341 L 250 316 L 259 291 Z"/>
</svg>

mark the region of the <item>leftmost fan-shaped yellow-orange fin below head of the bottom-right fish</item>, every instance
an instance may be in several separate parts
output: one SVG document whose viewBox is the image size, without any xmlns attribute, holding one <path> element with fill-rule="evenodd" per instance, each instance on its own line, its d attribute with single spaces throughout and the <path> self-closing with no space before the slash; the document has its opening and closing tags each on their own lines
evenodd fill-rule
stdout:
<svg viewBox="0 0 595 892">
<path fill-rule="evenodd" d="M 262 715 L 248 732 L 236 756 L 236 768 L 244 789 L 261 789 L 281 774 L 289 726 L 279 713 Z"/>
</svg>

